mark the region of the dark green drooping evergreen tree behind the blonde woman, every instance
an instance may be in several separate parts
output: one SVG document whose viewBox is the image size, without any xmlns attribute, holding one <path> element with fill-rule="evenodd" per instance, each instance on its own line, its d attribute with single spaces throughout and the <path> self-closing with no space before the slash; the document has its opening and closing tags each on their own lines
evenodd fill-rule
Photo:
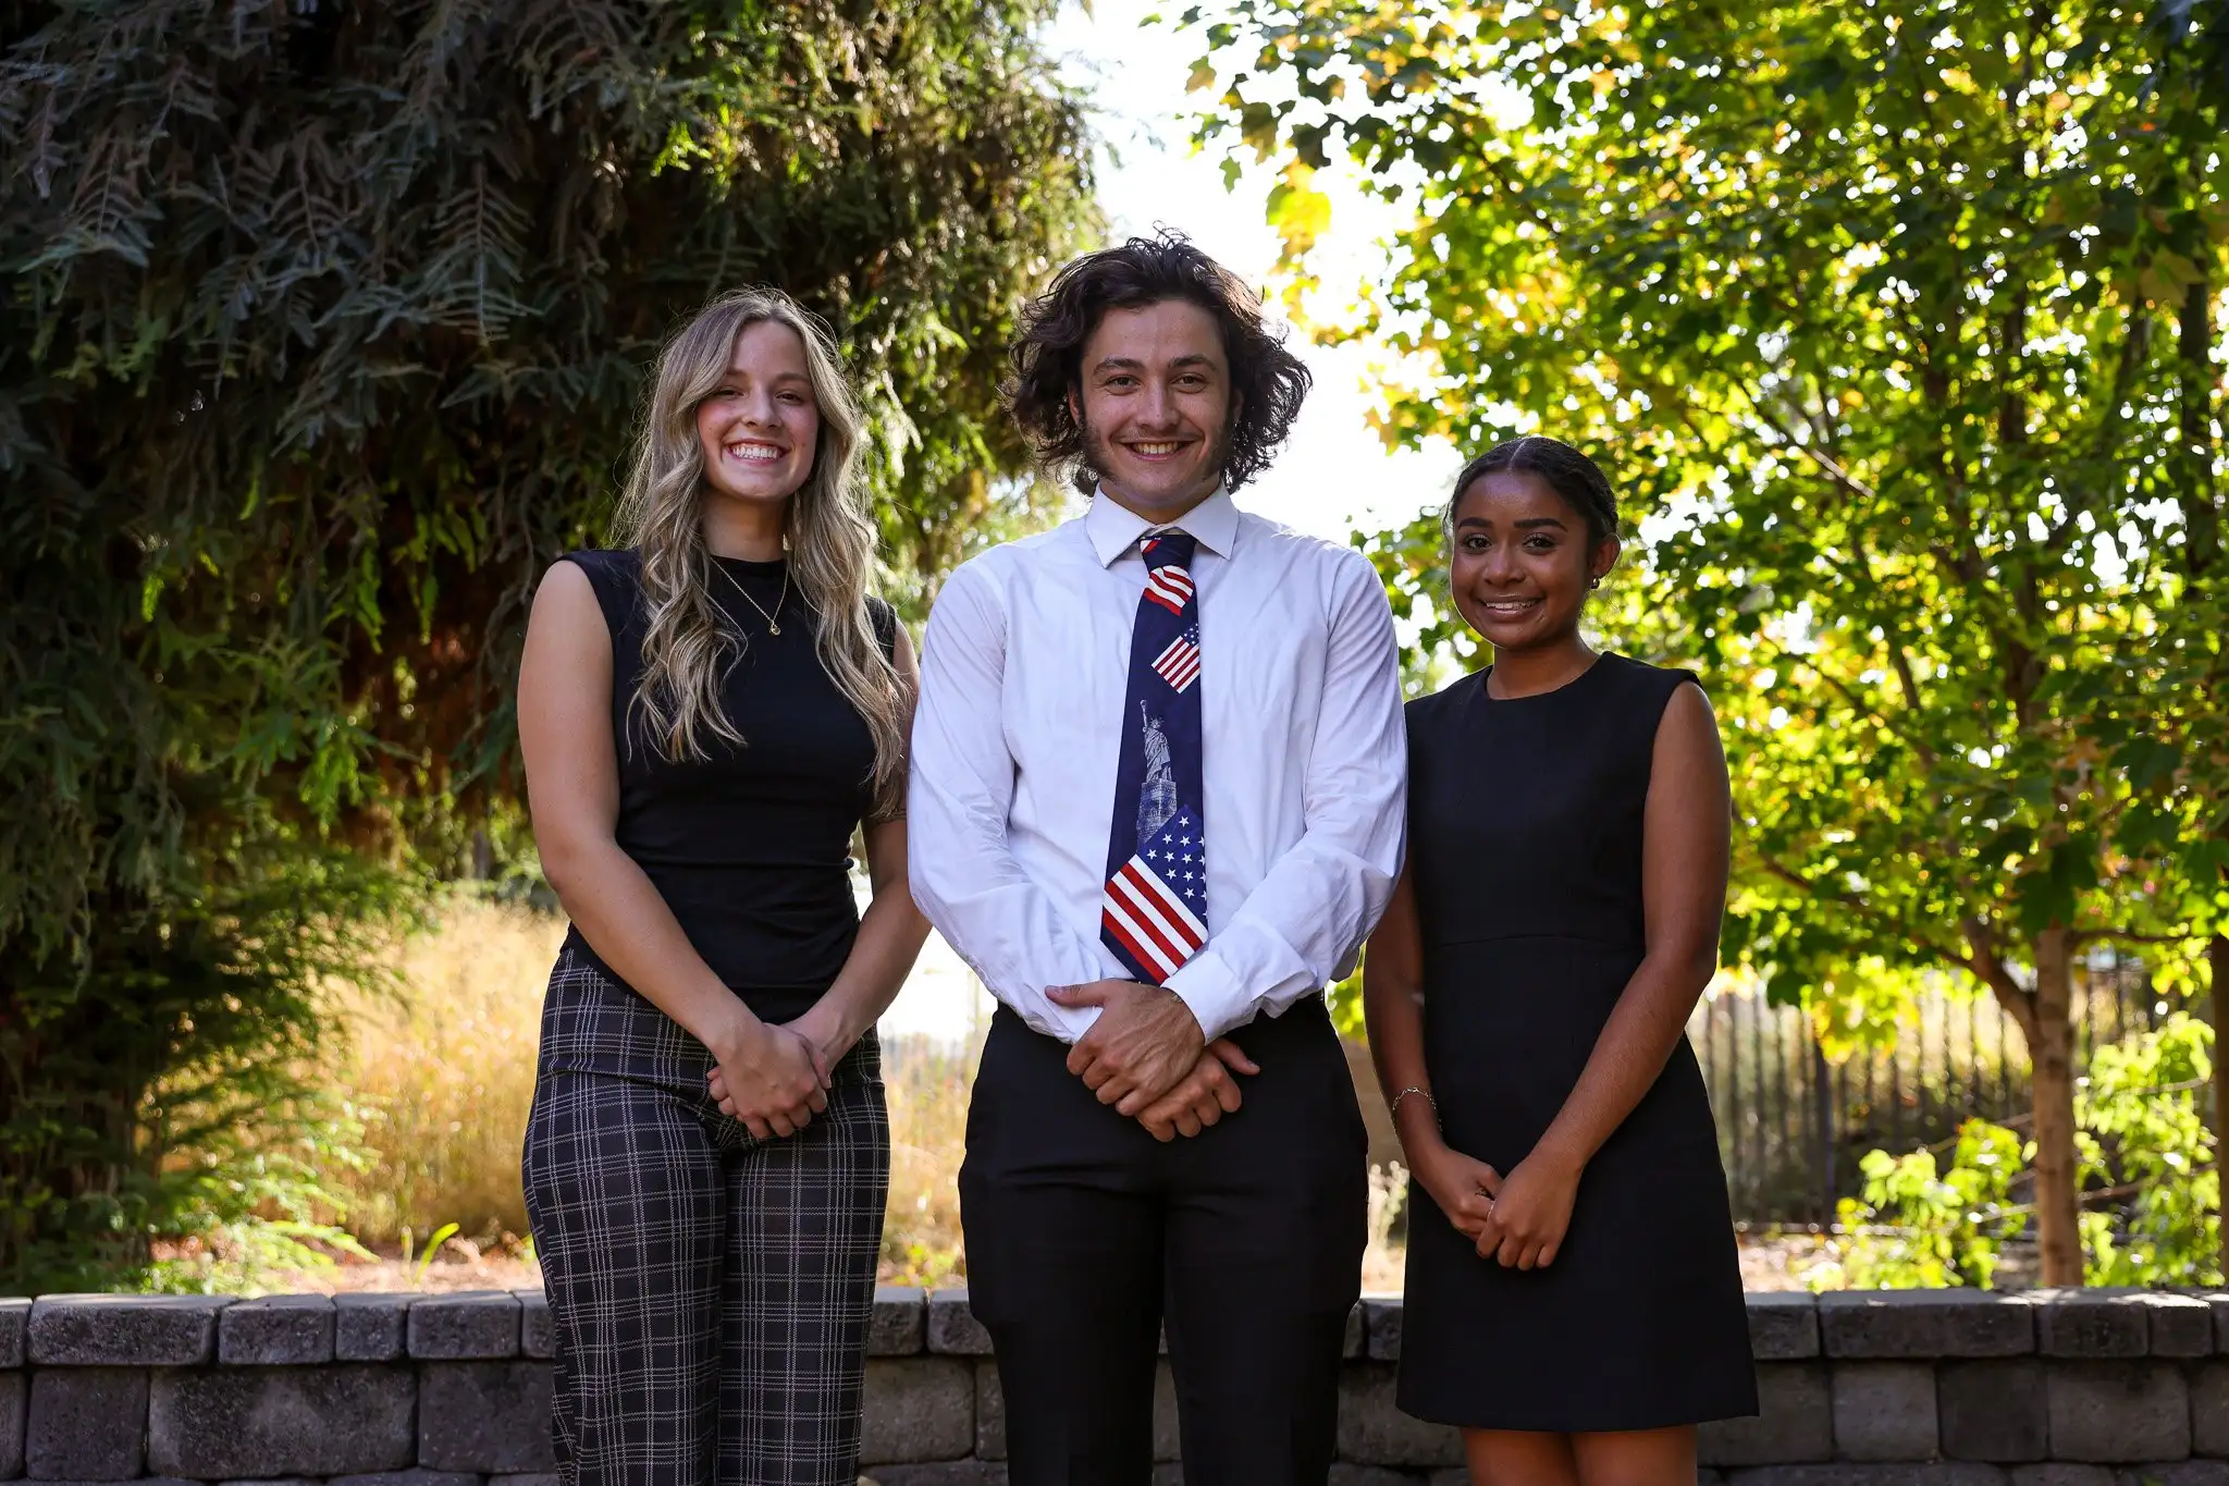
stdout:
<svg viewBox="0 0 2229 1486">
<path fill-rule="evenodd" d="M 1028 501 L 999 348 L 1094 221 L 1048 13 L 0 0 L 0 1288 L 129 1257 L 363 862 L 515 786 L 524 602 L 704 296 L 836 325 L 901 595 Z"/>
</svg>

